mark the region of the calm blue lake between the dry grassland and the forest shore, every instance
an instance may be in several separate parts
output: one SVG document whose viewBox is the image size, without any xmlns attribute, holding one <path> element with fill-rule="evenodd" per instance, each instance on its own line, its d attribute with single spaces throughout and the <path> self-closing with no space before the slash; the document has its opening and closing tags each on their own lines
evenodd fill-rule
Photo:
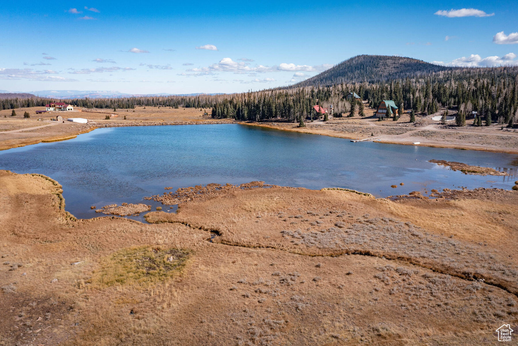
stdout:
<svg viewBox="0 0 518 346">
<path fill-rule="evenodd" d="M 91 205 L 135 203 L 162 194 L 166 186 L 208 183 L 259 180 L 310 189 L 343 187 L 378 197 L 434 188 L 510 189 L 518 175 L 511 162 L 517 158 L 214 124 L 97 129 L 65 142 L 0 151 L 0 169 L 56 179 L 63 185 L 66 210 L 88 218 L 99 216 Z M 492 167 L 512 176 L 465 175 L 430 159 Z"/>
</svg>

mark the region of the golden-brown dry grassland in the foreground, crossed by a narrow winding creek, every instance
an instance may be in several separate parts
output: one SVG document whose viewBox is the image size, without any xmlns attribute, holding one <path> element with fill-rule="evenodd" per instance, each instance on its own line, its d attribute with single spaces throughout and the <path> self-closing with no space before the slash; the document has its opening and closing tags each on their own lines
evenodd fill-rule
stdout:
<svg viewBox="0 0 518 346">
<path fill-rule="evenodd" d="M 78 220 L 45 176 L 0 186 L 2 345 L 496 344 L 518 323 L 516 191 L 213 185 L 141 224 Z"/>
</svg>

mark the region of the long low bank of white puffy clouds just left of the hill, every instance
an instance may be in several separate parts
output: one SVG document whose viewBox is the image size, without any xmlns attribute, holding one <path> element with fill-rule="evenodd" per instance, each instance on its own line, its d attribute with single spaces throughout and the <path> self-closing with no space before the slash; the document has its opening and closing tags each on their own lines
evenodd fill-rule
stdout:
<svg viewBox="0 0 518 346">
<path fill-rule="evenodd" d="M 333 65 L 323 64 L 317 66 L 295 65 L 293 63 L 281 63 L 278 66 L 250 66 L 245 62 L 234 61 L 231 58 L 223 58 L 220 62 L 207 67 L 191 68 L 190 72 L 234 72 L 234 73 L 254 73 L 254 72 L 279 72 L 279 71 L 305 71 L 305 72 L 321 72 Z"/>
</svg>

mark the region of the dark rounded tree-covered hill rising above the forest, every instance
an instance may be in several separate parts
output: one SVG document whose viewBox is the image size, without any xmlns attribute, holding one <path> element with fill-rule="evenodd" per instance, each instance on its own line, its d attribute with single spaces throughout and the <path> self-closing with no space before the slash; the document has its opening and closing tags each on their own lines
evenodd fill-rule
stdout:
<svg viewBox="0 0 518 346">
<path fill-rule="evenodd" d="M 434 72 L 454 70 L 455 68 L 411 58 L 362 55 L 343 61 L 293 87 L 332 86 L 353 82 L 376 83 L 427 76 Z"/>
</svg>

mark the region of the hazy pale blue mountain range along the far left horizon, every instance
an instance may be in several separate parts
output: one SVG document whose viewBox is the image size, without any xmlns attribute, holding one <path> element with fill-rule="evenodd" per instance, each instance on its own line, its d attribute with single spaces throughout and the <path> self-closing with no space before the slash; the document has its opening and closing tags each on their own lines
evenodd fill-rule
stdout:
<svg viewBox="0 0 518 346">
<path fill-rule="evenodd" d="M 9 92 L 7 90 L 0 90 L 0 99 L 10 98 L 31 98 L 33 96 L 39 96 L 41 98 L 49 99 L 118 99 L 128 98 L 132 96 L 197 96 L 197 95 L 218 95 L 218 93 L 204 94 L 204 93 L 192 93 L 192 94 L 127 94 L 119 91 L 106 91 L 106 90 L 38 90 L 30 91 L 30 93 L 22 92 Z"/>
</svg>

